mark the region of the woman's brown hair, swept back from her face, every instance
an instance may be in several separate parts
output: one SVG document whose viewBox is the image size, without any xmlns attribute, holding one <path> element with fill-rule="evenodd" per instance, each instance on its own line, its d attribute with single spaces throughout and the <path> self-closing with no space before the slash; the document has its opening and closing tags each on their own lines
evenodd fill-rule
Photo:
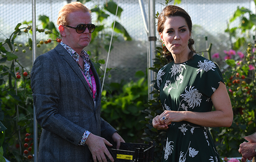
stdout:
<svg viewBox="0 0 256 162">
<path fill-rule="evenodd" d="M 166 6 L 163 11 L 160 13 L 160 15 L 158 16 L 158 23 L 157 23 L 157 31 L 158 33 L 162 33 L 164 30 L 164 24 L 165 21 L 168 17 L 171 16 L 180 16 L 183 17 L 185 19 L 185 21 L 187 22 L 188 28 L 189 28 L 189 32 L 191 33 L 192 31 L 192 21 L 191 18 L 189 16 L 189 14 L 182 8 L 175 6 L 175 5 L 169 5 Z M 193 49 L 192 45 L 195 43 L 195 41 L 192 38 L 189 38 L 189 49 L 191 50 L 191 52 L 189 53 L 189 58 L 191 59 L 193 56 L 193 53 L 196 53 L 195 50 Z M 163 55 L 165 55 L 165 58 L 167 58 L 168 61 L 173 61 L 174 58 L 172 57 L 171 53 L 168 51 L 168 49 L 166 48 L 166 46 L 163 46 L 162 43 L 162 47 L 163 47 Z"/>
</svg>

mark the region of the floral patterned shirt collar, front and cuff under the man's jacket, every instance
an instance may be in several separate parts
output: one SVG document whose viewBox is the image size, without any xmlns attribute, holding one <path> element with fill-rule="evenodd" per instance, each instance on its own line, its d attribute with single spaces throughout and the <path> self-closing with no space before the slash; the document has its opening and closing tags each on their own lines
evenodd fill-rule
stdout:
<svg viewBox="0 0 256 162">
<path fill-rule="evenodd" d="M 82 68 L 80 66 L 80 64 L 78 63 L 78 61 L 79 61 L 78 53 L 76 53 L 76 51 L 74 49 L 72 49 L 71 47 L 69 47 L 68 45 L 63 43 L 62 41 L 61 41 L 61 45 L 67 50 L 67 52 L 72 56 L 72 58 L 74 58 L 74 60 L 78 64 L 81 72 L 86 77 L 87 81 L 89 82 L 89 84 L 90 84 L 89 86 L 92 87 L 91 75 L 89 74 L 89 70 L 90 70 L 91 64 L 89 62 L 89 55 L 88 55 L 88 53 L 86 53 L 84 50 L 82 50 L 82 52 L 81 52 L 81 57 L 82 57 L 83 61 L 85 62 L 85 65 Z M 92 90 L 91 90 L 91 93 L 93 93 Z M 94 101 L 96 100 L 96 96 L 97 95 L 95 94 L 95 98 L 93 99 Z M 85 146 L 85 141 L 87 140 L 87 137 L 89 136 L 90 133 L 91 133 L 90 131 L 86 130 L 85 133 L 82 136 L 82 139 L 80 140 L 80 143 L 78 145 Z"/>
</svg>

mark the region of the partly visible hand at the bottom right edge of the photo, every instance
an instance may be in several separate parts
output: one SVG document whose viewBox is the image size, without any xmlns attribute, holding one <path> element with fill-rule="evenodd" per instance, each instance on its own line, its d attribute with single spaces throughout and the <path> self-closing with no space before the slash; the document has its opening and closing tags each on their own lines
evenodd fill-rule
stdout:
<svg viewBox="0 0 256 162">
<path fill-rule="evenodd" d="M 246 159 L 252 160 L 256 156 L 255 152 L 256 143 L 244 142 L 240 144 L 239 153 L 242 154 L 242 162 L 246 162 Z"/>
</svg>

